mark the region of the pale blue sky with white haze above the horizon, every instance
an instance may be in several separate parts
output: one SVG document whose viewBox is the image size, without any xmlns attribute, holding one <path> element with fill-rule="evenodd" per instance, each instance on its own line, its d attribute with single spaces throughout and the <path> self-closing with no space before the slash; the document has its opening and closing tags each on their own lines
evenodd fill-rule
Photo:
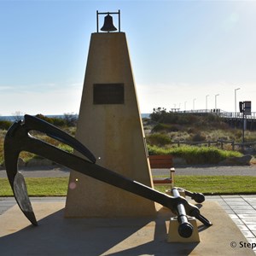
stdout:
<svg viewBox="0 0 256 256">
<path fill-rule="evenodd" d="M 118 9 L 142 113 L 234 112 L 236 88 L 256 111 L 255 1 L 0 0 L 0 115 L 79 113 L 96 10 Z"/>
</svg>

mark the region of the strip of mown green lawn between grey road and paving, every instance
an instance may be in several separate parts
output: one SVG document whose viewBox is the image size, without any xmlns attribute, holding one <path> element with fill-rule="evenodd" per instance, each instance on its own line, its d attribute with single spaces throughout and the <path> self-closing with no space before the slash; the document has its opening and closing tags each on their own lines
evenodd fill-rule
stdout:
<svg viewBox="0 0 256 256">
<path fill-rule="evenodd" d="M 67 195 L 68 177 L 26 177 L 30 196 Z M 176 176 L 175 185 L 205 195 L 256 194 L 256 177 Z M 164 192 L 170 186 L 155 186 Z M 7 178 L 0 178 L 0 196 L 13 196 Z"/>
</svg>

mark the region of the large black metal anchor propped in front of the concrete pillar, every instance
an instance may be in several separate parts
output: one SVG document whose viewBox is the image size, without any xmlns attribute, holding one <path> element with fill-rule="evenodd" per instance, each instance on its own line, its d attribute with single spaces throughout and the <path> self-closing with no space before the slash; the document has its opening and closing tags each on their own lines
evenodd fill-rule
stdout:
<svg viewBox="0 0 256 256">
<path fill-rule="evenodd" d="M 38 138 L 32 137 L 29 131 L 41 131 L 47 136 L 53 137 L 61 143 L 66 143 L 79 153 L 83 154 L 86 159 L 82 159 L 74 154 L 56 148 L 55 146 L 45 143 Z M 168 207 L 177 215 L 179 221 L 178 232 L 180 236 L 189 237 L 192 235 L 193 226 L 189 223 L 187 214 L 200 220 L 206 226 L 212 225 L 207 218 L 204 218 L 198 207 L 190 204 L 179 194 L 170 196 L 160 193 L 157 190 L 119 175 L 116 172 L 108 170 L 102 166 L 96 165 L 96 158 L 78 140 L 69 136 L 66 132 L 61 131 L 54 125 L 50 125 L 42 119 L 25 115 L 24 121 L 15 122 L 6 134 L 4 140 L 4 159 L 9 183 L 13 189 L 15 200 L 21 211 L 33 225 L 38 225 L 37 219 L 32 210 L 32 204 L 29 200 L 26 190 L 25 179 L 18 171 L 18 158 L 21 151 L 31 152 L 53 160 L 62 166 L 67 166 L 77 172 L 81 172 L 90 177 L 94 177 L 104 183 L 111 184 L 119 189 L 125 189 L 133 194 L 143 196 L 151 201 L 156 201 L 164 207 Z"/>
</svg>

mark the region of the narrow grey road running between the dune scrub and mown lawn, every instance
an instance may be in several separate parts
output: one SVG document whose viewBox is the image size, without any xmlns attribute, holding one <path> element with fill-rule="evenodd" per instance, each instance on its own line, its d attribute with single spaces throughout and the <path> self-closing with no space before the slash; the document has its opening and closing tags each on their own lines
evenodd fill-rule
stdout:
<svg viewBox="0 0 256 256">
<path fill-rule="evenodd" d="M 256 176 L 256 166 L 183 166 L 175 168 L 175 175 Z M 68 177 L 70 169 L 62 166 L 33 166 L 20 169 L 24 177 Z M 153 175 L 167 175 L 168 169 L 153 169 Z M 0 177 L 7 177 L 0 170 Z"/>
</svg>

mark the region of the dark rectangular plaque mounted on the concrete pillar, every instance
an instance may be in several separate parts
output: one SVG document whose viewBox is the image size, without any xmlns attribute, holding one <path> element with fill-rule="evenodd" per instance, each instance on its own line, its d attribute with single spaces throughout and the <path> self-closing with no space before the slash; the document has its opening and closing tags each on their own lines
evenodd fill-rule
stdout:
<svg viewBox="0 0 256 256">
<path fill-rule="evenodd" d="M 124 84 L 93 84 L 93 104 L 124 103 Z"/>
</svg>

